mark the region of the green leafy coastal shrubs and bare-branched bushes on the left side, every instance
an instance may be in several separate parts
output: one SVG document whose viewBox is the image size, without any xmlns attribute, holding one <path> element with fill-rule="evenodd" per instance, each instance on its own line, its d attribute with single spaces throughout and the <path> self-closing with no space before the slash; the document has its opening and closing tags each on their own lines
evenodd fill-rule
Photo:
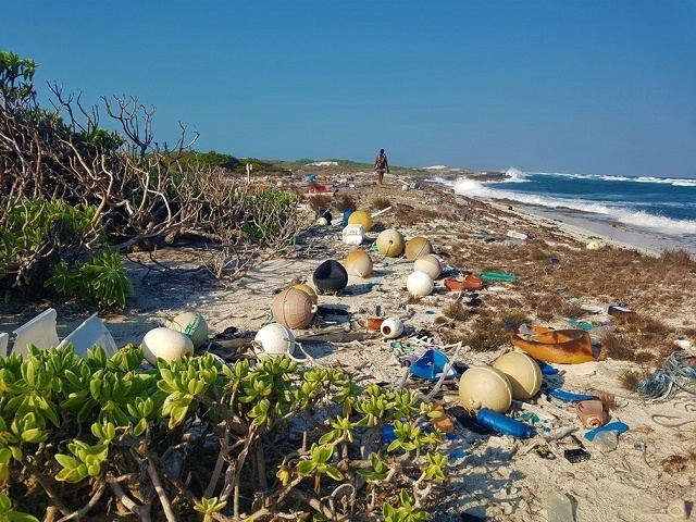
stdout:
<svg viewBox="0 0 696 522">
<path fill-rule="evenodd" d="M 88 108 L 54 84 L 53 109 L 40 108 L 35 72 L 0 52 L 5 302 L 53 291 L 123 309 L 121 253 L 195 238 L 224 277 L 293 249 L 313 219 L 298 196 L 231 175 L 247 160 L 194 152 L 185 127 L 158 145 L 137 98 Z M 0 520 L 421 521 L 446 482 L 442 435 L 426 428 L 440 413 L 407 389 L 287 357 L 141 363 L 133 345 L 110 359 L 70 345 L 0 358 Z"/>
</svg>

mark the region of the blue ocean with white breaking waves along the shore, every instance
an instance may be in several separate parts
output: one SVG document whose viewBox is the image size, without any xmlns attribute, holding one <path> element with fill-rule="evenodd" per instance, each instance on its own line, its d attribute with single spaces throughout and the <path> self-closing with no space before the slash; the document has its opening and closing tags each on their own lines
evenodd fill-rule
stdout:
<svg viewBox="0 0 696 522">
<path fill-rule="evenodd" d="M 549 219 L 583 226 L 612 239 L 654 251 L 696 252 L 696 179 L 522 172 L 509 169 L 499 181 L 428 167 L 457 194 L 522 204 Z"/>
</svg>

